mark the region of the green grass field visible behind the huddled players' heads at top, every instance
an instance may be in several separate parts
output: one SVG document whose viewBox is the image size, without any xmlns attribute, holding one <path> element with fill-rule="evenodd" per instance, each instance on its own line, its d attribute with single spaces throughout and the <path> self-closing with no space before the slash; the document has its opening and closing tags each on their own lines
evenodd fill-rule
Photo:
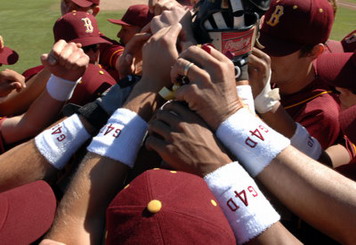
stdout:
<svg viewBox="0 0 356 245">
<path fill-rule="evenodd" d="M 348 0 L 356 3 L 356 0 Z M 0 35 L 5 45 L 20 54 L 20 60 L 11 66 L 18 72 L 40 64 L 40 55 L 53 44 L 52 27 L 60 16 L 59 0 L 11 0 L 2 2 Z M 123 12 L 101 11 L 97 16 L 100 30 L 115 39 L 119 26 L 109 23 L 108 18 L 120 18 Z M 339 7 L 331 38 L 340 40 L 356 29 L 356 10 Z M 3 66 L 1 69 L 4 69 Z M 10 68 L 10 67 L 9 67 Z"/>
</svg>

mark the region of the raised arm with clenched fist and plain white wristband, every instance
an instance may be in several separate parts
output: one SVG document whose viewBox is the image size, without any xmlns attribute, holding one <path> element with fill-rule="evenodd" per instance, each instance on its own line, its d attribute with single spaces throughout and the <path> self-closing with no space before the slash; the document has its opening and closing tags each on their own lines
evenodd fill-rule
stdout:
<svg viewBox="0 0 356 245">
<path fill-rule="evenodd" d="M 2 124 L 2 136 L 7 144 L 28 139 L 49 126 L 58 116 L 77 80 L 88 65 L 88 56 L 75 43 L 63 40 L 54 44 L 42 62 L 52 73 L 47 89 L 21 116 L 7 118 Z"/>
</svg>

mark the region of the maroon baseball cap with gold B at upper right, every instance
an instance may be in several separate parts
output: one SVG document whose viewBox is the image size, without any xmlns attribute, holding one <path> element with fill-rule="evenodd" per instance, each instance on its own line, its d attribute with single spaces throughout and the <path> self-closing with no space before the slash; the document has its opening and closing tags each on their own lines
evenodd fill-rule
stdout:
<svg viewBox="0 0 356 245">
<path fill-rule="evenodd" d="M 328 0 L 274 0 L 265 14 L 259 42 L 270 56 L 285 56 L 328 40 L 334 13 Z"/>
</svg>

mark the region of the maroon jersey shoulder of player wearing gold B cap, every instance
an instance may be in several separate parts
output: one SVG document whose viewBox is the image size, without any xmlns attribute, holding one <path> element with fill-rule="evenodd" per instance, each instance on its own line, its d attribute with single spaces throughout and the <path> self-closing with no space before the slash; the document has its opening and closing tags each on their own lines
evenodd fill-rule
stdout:
<svg viewBox="0 0 356 245">
<path fill-rule="evenodd" d="M 323 149 L 340 136 L 337 95 L 331 87 L 316 78 L 297 93 L 281 95 L 281 103 L 289 115 L 316 138 Z"/>
</svg>

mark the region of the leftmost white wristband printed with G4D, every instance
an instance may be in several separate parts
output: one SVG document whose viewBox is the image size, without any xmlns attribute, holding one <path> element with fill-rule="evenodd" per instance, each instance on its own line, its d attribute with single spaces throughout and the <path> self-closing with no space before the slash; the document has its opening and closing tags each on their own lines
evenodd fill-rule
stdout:
<svg viewBox="0 0 356 245">
<path fill-rule="evenodd" d="M 61 169 L 79 147 L 90 138 L 77 114 L 35 137 L 38 151 L 55 168 Z"/>
</svg>

